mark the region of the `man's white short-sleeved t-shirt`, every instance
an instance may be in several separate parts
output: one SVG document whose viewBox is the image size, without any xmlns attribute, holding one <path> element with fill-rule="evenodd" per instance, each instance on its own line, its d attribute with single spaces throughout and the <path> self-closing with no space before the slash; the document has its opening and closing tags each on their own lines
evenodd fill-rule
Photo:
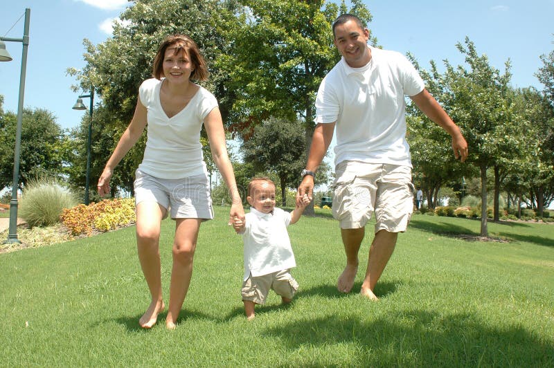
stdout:
<svg viewBox="0 0 554 368">
<path fill-rule="evenodd" d="M 342 58 L 323 78 L 316 123 L 337 122 L 335 165 L 343 160 L 411 166 L 404 96 L 425 88 L 404 55 L 368 46 L 371 60 L 351 68 Z"/>
</svg>

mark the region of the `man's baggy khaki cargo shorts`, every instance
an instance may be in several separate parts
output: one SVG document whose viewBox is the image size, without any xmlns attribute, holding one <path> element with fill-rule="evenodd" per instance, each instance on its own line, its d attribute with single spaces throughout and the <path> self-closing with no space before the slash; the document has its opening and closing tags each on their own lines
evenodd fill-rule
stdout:
<svg viewBox="0 0 554 368">
<path fill-rule="evenodd" d="M 335 169 L 332 213 L 342 229 L 357 229 L 375 213 L 375 232 L 404 232 L 413 212 L 411 167 L 343 161 Z"/>
</svg>

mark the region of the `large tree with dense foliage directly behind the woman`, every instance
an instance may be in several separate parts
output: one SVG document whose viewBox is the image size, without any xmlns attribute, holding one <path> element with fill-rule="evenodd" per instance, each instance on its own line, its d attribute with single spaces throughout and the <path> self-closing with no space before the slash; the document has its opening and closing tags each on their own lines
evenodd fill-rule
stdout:
<svg viewBox="0 0 554 368">
<path fill-rule="evenodd" d="M 167 35 L 186 33 L 195 39 L 211 71 L 209 82 L 203 85 L 220 102 L 225 122 L 232 104 L 224 84 L 229 73 L 217 69 L 213 61 L 220 53 L 229 52 L 222 29 L 234 21 L 236 6 L 234 0 L 136 0 L 120 15 L 126 25 L 114 24 L 112 37 L 97 46 L 84 39 L 87 64 L 82 71 L 69 68 L 68 73 L 77 77 L 80 89 L 88 91 L 94 86 L 98 95 L 93 115 L 92 178 L 98 177 L 129 124 L 139 86 L 151 77 L 152 59 Z M 83 127 L 74 132 L 75 138 L 82 134 Z M 114 191 L 122 186 L 132 192 L 134 169 L 142 160 L 144 145 L 143 136 L 119 164 L 112 178 Z"/>
</svg>

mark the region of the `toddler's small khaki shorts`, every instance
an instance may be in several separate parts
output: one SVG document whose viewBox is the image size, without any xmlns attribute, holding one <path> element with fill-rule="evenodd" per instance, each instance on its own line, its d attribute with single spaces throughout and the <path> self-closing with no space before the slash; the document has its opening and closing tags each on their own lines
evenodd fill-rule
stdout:
<svg viewBox="0 0 554 368">
<path fill-rule="evenodd" d="M 242 300 L 249 300 L 256 304 L 265 304 L 265 299 L 273 289 L 277 295 L 292 299 L 298 290 L 298 282 L 289 273 L 289 270 L 269 273 L 268 275 L 250 277 L 242 283 Z"/>
</svg>

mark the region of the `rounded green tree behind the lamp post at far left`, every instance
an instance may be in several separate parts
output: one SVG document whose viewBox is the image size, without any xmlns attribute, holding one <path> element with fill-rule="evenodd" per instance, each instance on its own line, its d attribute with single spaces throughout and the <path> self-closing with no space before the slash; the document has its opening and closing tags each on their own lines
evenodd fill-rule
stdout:
<svg viewBox="0 0 554 368">
<path fill-rule="evenodd" d="M 0 96 L 1 97 L 1 96 Z M 3 111 L 0 99 L 0 187 L 11 187 L 13 178 L 17 114 Z M 62 128 L 45 109 L 24 109 L 21 121 L 19 184 L 38 174 L 60 174 L 62 168 Z"/>
</svg>

